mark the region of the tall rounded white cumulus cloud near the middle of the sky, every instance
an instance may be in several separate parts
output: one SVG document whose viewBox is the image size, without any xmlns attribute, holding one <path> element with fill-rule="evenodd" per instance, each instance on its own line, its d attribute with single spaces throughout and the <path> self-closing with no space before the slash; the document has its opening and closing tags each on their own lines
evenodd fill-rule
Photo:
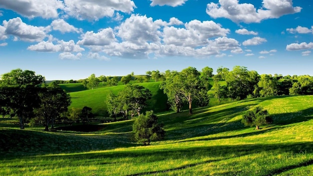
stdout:
<svg viewBox="0 0 313 176">
<path fill-rule="evenodd" d="M 117 36 L 132 43 L 158 42 L 161 32 L 159 24 L 153 22 L 151 17 L 131 15 L 117 27 Z"/>
</svg>

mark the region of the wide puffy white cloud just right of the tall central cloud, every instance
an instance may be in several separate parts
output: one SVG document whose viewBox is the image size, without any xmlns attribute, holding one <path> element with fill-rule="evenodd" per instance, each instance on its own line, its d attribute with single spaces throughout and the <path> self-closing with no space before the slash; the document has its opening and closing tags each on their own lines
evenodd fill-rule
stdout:
<svg viewBox="0 0 313 176">
<path fill-rule="evenodd" d="M 226 36 L 229 29 L 222 28 L 213 21 L 191 20 L 185 23 L 185 28 L 165 26 L 163 33 L 165 44 L 194 47 L 208 44 L 208 38 Z"/>
</svg>

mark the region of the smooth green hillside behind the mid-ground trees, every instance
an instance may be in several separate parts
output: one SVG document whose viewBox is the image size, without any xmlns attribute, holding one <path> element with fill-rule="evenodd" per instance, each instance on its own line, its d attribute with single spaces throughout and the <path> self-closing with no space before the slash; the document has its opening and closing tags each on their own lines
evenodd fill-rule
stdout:
<svg viewBox="0 0 313 176">
<path fill-rule="evenodd" d="M 160 82 L 145 82 L 139 83 L 139 85 L 148 88 L 152 92 L 152 99 L 147 101 L 146 109 L 153 109 L 155 112 L 164 111 L 166 109 L 166 95 L 159 89 Z M 70 92 L 71 107 L 82 108 L 83 106 L 89 106 L 92 108 L 92 112 L 96 115 L 107 116 L 106 112 L 106 96 L 112 91 L 117 93 L 124 88 L 125 85 L 110 86 L 103 88 L 96 88 L 92 90 Z M 143 109 L 144 111 L 145 109 Z"/>
</svg>

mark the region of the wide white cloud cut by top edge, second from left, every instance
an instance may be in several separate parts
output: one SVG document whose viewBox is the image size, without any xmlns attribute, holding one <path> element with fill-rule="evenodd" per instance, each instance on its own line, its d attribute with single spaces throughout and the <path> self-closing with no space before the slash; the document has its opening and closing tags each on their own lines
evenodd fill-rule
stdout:
<svg viewBox="0 0 313 176">
<path fill-rule="evenodd" d="M 64 3 L 68 15 L 88 20 L 112 17 L 115 11 L 130 13 L 136 8 L 132 0 L 64 0 Z"/>
</svg>

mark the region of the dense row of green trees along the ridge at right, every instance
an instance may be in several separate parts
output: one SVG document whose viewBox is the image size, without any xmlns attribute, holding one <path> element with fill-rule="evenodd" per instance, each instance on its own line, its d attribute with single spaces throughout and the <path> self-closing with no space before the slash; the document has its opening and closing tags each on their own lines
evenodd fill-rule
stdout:
<svg viewBox="0 0 313 176">
<path fill-rule="evenodd" d="M 221 80 L 225 80 L 225 86 L 220 85 Z M 228 68 L 218 68 L 217 74 L 213 75 L 213 82 L 214 96 L 218 99 L 313 94 L 312 76 L 259 75 L 244 66 L 234 66 L 231 71 Z"/>
</svg>

